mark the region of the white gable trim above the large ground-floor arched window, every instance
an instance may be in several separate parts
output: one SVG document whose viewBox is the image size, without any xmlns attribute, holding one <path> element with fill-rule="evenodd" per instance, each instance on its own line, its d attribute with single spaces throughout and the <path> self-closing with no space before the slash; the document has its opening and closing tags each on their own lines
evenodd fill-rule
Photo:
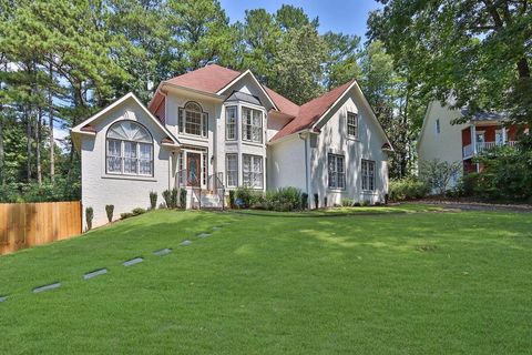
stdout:
<svg viewBox="0 0 532 355">
<path fill-rule="evenodd" d="M 130 100 L 130 99 L 133 100 L 146 113 L 146 115 L 150 119 L 152 119 L 161 130 L 163 130 L 164 133 L 166 133 L 167 136 L 165 139 L 163 139 L 163 141 L 161 143 L 168 144 L 168 145 L 181 145 L 180 142 L 177 141 L 177 139 L 172 134 L 172 132 L 170 132 L 170 130 L 167 128 L 165 128 L 161 123 L 161 121 L 157 120 L 152 114 L 152 112 L 150 112 L 150 110 L 147 110 L 146 106 L 144 104 L 142 104 L 141 100 L 139 100 L 139 98 L 135 97 L 135 94 L 132 93 L 132 92 L 126 93 L 125 95 L 123 95 L 119 100 L 114 101 L 112 104 L 110 104 L 105 109 L 100 110 L 94 115 L 90 116 L 86 120 L 83 120 L 76 126 L 72 128 L 71 132 L 73 133 L 72 135 L 73 135 L 74 143 L 76 143 L 78 139 L 75 136 L 78 136 L 79 134 L 85 134 L 85 135 L 86 134 L 88 135 L 96 134 L 96 130 L 93 128 L 93 125 L 91 123 L 93 121 L 98 120 L 99 118 L 101 118 L 102 115 L 104 115 L 105 113 L 108 113 L 109 111 L 113 110 L 114 108 L 116 108 L 116 106 L 121 105 L 122 103 L 124 103 L 125 101 Z"/>
</svg>

